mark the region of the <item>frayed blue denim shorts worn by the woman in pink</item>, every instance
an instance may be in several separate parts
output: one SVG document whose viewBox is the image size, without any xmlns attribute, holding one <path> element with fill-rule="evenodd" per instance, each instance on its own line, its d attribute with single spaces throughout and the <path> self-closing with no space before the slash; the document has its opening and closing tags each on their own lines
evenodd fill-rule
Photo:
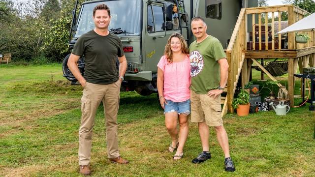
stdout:
<svg viewBox="0 0 315 177">
<path fill-rule="evenodd" d="M 165 113 L 177 112 L 179 115 L 184 113 L 186 115 L 190 114 L 190 99 L 183 102 L 173 102 L 171 100 L 166 100 L 167 104 L 164 103 Z"/>
</svg>

